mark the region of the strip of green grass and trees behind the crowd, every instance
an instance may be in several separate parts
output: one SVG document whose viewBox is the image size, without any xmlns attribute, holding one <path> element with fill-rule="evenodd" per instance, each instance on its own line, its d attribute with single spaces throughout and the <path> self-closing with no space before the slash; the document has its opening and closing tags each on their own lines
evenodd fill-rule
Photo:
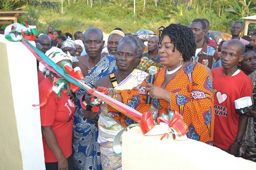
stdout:
<svg viewBox="0 0 256 170">
<path fill-rule="evenodd" d="M 53 15 L 44 10 L 60 11 L 58 4 L 61 4 L 59 0 L 2 0 L 0 10 L 25 6 L 40 12 L 36 23 L 39 31 L 46 32 L 48 25 L 53 25 L 54 29 L 70 33 L 84 31 L 88 27 L 99 27 L 105 32 L 115 27 L 130 33 L 138 29 L 158 32 L 161 25 L 189 25 L 196 18 L 209 20 L 211 30 L 229 32 L 232 22 L 256 12 L 256 0 L 135 0 L 135 15 L 134 0 L 66 0 L 63 2 L 63 14 Z M 30 14 L 29 18 L 37 15 L 32 11 Z"/>
</svg>

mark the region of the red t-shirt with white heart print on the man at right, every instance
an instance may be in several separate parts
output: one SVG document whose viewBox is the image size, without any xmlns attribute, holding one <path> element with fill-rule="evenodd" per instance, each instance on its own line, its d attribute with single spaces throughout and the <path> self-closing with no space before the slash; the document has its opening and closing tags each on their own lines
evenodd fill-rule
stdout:
<svg viewBox="0 0 256 170">
<path fill-rule="evenodd" d="M 222 74 L 223 67 L 212 70 L 214 95 L 213 145 L 228 149 L 238 132 L 240 115 L 235 112 L 235 100 L 252 95 L 251 79 L 240 71 L 234 76 Z"/>
</svg>

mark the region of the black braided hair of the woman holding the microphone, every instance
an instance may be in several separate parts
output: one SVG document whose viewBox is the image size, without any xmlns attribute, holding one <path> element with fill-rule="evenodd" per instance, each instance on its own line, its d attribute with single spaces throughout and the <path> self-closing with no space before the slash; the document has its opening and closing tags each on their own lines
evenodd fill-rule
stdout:
<svg viewBox="0 0 256 170">
<path fill-rule="evenodd" d="M 174 45 L 172 49 L 175 52 L 175 47 L 183 56 L 183 61 L 190 61 L 191 57 L 195 56 L 196 53 L 196 37 L 193 31 L 181 24 L 170 24 L 164 28 L 161 26 L 159 30 L 159 43 L 161 44 L 165 35 L 169 36 L 171 43 Z"/>
</svg>

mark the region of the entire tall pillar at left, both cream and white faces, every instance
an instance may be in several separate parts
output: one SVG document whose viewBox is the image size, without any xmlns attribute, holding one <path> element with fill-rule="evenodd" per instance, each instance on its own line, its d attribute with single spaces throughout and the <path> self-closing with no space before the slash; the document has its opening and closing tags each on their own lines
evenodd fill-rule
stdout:
<svg viewBox="0 0 256 170">
<path fill-rule="evenodd" d="M 45 170 L 36 58 L 0 35 L 0 169 Z"/>
</svg>

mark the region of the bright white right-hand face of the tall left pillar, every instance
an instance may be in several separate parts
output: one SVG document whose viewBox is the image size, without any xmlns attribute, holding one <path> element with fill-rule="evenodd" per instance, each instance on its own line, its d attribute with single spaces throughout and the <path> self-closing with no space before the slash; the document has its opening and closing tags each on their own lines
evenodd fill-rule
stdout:
<svg viewBox="0 0 256 170">
<path fill-rule="evenodd" d="M 7 41 L 3 35 L 0 42 L 7 48 L 23 169 L 44 170 L 39 107 L 32 106 L 39 104 L 36 58 L 20 42 Z"/>
</svg>

